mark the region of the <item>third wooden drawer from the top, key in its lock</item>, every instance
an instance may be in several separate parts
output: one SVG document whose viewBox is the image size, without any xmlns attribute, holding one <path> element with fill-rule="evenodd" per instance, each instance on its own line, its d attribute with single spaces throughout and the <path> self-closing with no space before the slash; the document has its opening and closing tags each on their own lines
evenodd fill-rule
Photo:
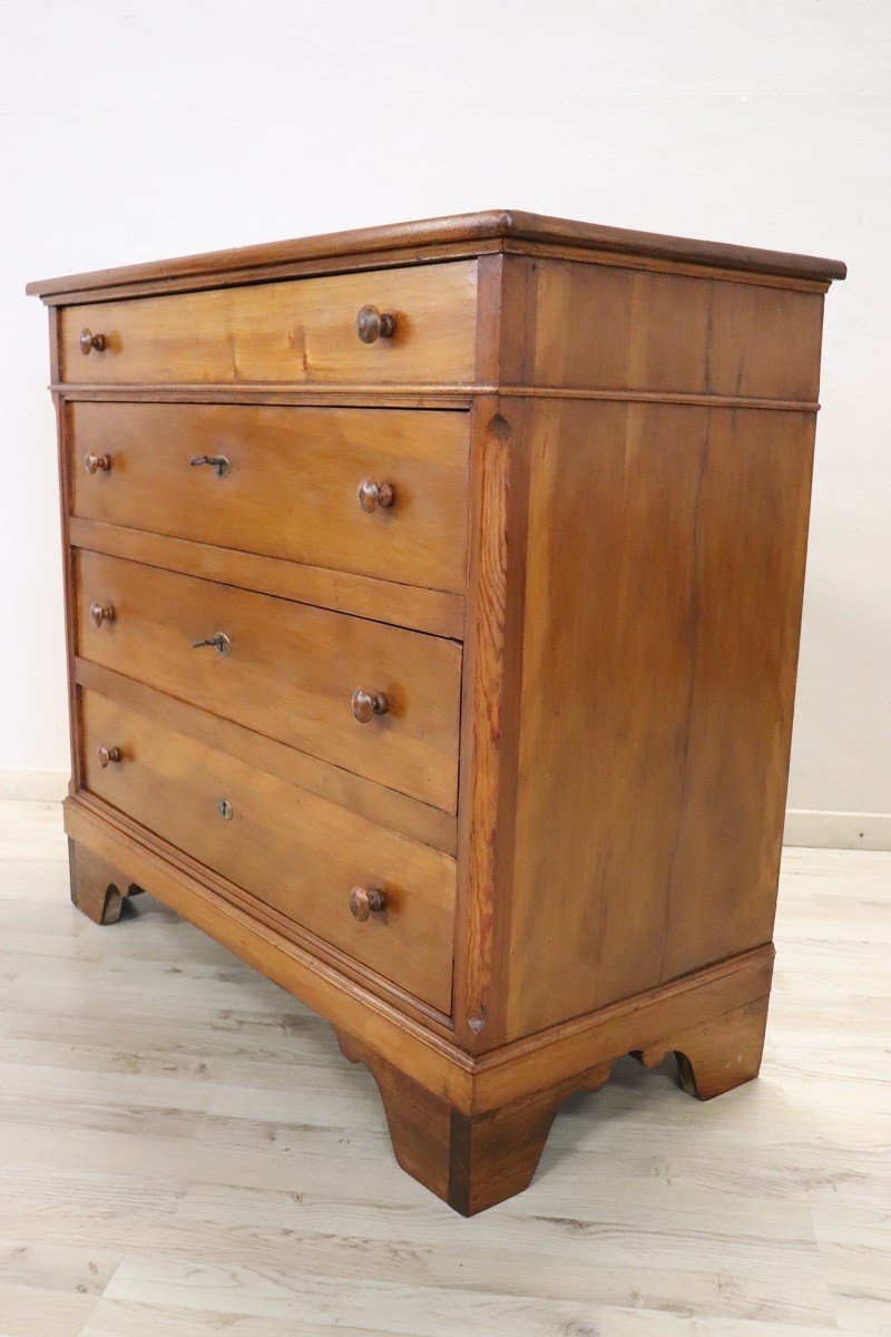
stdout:
<svg viewBox="0 0 891 1337">
<path fill-rule="evenodd" d="M 76 592 L 84 659 L 456 812 L 456 642 L 83 550 Z M 192 648 L 216 634 L 227 654 Z M 358 722 L 357 691 L 385 711 Z"/>
</svg>

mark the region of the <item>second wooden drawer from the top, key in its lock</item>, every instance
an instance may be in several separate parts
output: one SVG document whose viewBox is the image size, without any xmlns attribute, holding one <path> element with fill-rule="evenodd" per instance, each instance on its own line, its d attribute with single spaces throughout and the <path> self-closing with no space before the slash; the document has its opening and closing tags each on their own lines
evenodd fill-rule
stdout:
<svg viewBox="0 0 891 1337">
<path fill-rule="evenodd" d="M 95 402 L 69 413 L 75 516 L 464 590 L 466 413 Z M 202 456 L 227 463 L 190 464 Z M 365 480 L 389 484 L 391 501 L 367 488 L 361 500 Z"/>
</svg>

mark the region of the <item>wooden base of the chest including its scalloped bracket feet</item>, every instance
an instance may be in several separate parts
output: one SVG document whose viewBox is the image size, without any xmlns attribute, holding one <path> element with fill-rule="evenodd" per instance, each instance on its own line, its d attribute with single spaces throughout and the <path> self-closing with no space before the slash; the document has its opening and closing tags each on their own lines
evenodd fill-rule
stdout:
<svg viewBox="0 0 891 1337">
<path fill-rule="evenodd" d="M 252 920 L 76 798 L 64 805 L 72 898 L 112 923 L 144 886 L 329 1020 L 345 1058 L 365 1063 L 399 1165 L 472 1215 L 525 1189 L 553 1119 L 612 1064 L 679 1055 L 684 1087 L 711 1099 L 757 1075 L 773 947 L 764 944 L 636 997 L 472 1058 L 393 1004 Z"/>
</svg>

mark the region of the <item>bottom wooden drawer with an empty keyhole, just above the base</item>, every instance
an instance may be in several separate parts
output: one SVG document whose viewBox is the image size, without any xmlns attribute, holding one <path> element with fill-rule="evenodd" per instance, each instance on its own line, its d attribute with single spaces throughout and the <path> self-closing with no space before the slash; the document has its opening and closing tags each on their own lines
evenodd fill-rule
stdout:
<svg viewBox="0 0 891 1337">
<path fill-rule="evenodd" d="M 81 694 L 81 722 L 94 794 L 385 979 L 450 1011 L 453 858 L 94 693 Z M 100 749 L 112 758 L 103 754 L 104 766 Z M 353 888 L 383 892 L 383 909 L 357 920 Z"/>
</svg>

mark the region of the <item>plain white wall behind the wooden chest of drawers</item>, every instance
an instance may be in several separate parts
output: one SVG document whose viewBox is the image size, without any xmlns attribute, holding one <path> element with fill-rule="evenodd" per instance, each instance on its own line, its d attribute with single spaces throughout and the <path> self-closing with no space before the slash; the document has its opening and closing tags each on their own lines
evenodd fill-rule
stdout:
<svg viewBox="0 0 891 1337">
<path fill-rule="evenodd" d="M 0 767 L 67 766 L 25 279 L 497 206 L 848 262 L 789 801 L 891 813 L 890 49 L 886 0 L 5 0 Z"/>
</svg>

